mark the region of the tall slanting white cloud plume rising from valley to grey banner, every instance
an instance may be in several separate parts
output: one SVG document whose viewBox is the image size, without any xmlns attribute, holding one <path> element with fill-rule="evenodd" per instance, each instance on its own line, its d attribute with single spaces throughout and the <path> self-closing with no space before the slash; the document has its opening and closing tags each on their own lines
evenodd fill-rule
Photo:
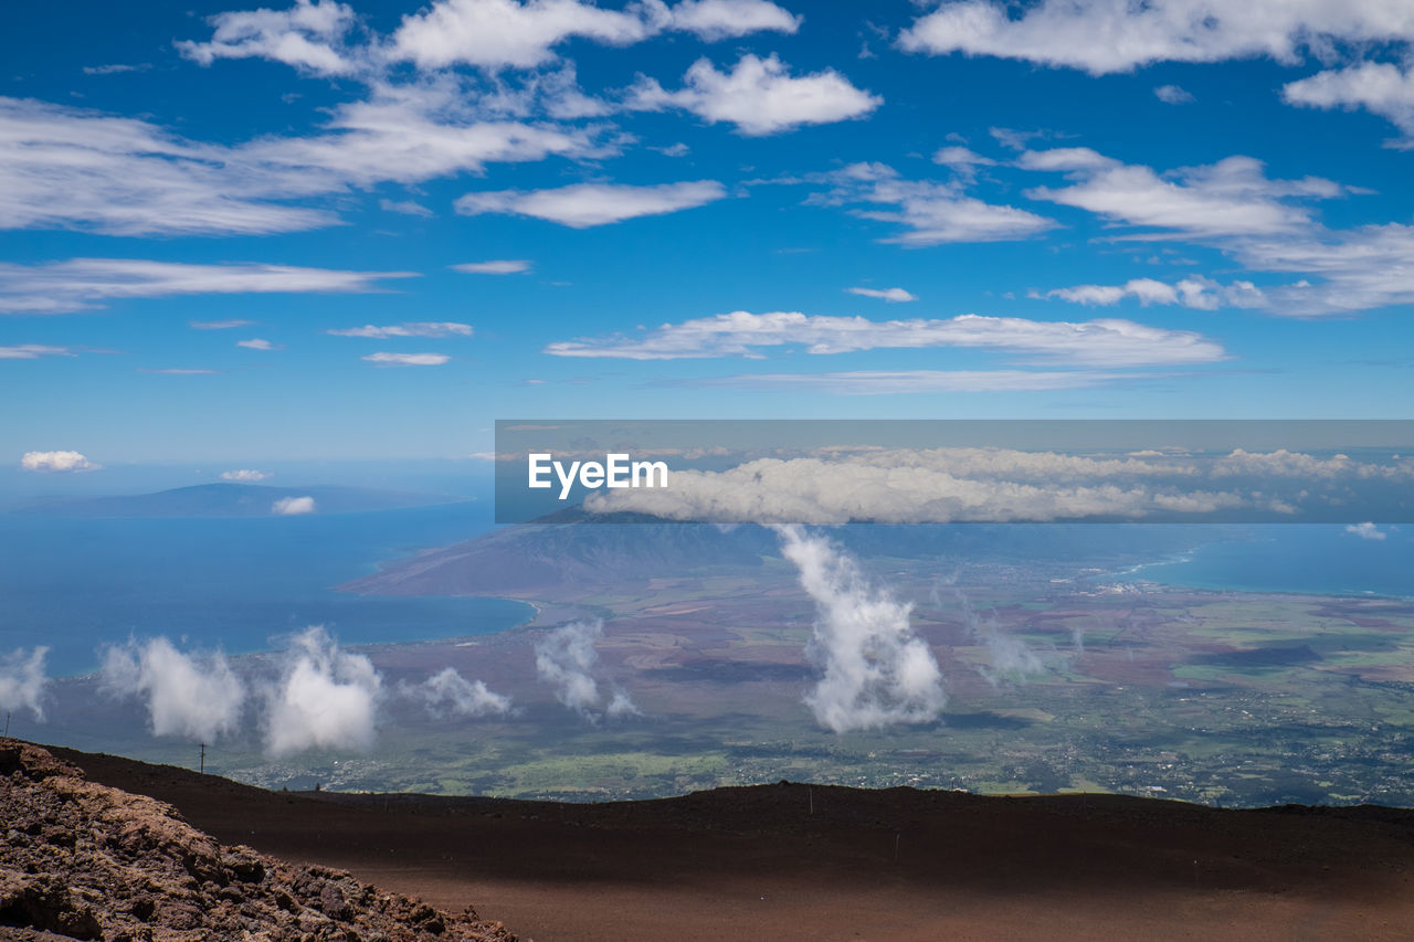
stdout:
<svg viewBox="0 0 1414 942">
<path fill-rule="evenodd" d="M 816 604 L 806 655 L 823 676 L 805 699 L 814 719 L 834 733 L 936 720 L 947 702 L 943 676 L 913 634 L 912 605 L 870 584 L 823 536 L 799 526 L 776 533 Z"/>
</svg>

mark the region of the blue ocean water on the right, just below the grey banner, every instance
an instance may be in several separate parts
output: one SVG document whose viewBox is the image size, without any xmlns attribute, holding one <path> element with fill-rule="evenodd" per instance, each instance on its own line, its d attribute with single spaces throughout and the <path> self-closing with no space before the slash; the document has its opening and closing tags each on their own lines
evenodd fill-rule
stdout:
<svg viewBox="0 0 1414 942">
<path fill-rule="evenodd" d="M 1414 526 L 1365 539 L 1345 526 L 1274 523 L 1205 543 L 1121 578 L 1191 588 L 1414 598 Z"/>
</svg>

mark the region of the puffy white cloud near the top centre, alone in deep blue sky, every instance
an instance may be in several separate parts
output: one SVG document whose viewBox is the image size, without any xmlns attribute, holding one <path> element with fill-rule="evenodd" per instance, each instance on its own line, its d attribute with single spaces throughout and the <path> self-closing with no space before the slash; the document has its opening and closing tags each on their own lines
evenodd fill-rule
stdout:
<svg viewBox="0 0 1414 942">
<path fill-rule="evenodd" d="M 742 134 L 765 136 L 863 117 L 884 103 L 834 69 L 792 76 L 775 55 L 742 55 L 731 72 L 697 59 L 683 82 L 682 89 L 667 92 L 655 79 L 641 78 L 626 105 L 645 110 L 680 107 L 713 124 L 727 122 Z"/>
</svg>

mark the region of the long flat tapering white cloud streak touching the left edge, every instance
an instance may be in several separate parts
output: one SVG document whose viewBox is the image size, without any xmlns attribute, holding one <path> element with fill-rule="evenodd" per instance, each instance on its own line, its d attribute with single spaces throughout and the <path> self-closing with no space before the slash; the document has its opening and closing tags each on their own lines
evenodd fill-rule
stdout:
<svg viewBox="0 0 1414 942">
<path fill-rule="evenodd" d="M 409 272 L 338 272 L 288 264 L 184 264 L 144 259 L 69 259 L 0 263 L 0 314 L 62 314 L 103 307 L 110 298 L 185 294 L 358 293 Z M 198 330 L 249 321 L 198 321 Z"/>
</svg>

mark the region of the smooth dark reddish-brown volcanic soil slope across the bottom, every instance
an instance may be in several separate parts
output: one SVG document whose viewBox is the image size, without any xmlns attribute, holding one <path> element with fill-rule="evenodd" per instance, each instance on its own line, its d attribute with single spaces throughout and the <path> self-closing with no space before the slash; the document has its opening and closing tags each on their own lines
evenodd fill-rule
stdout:
<svg viewBox="0 0 1414 942">
<path fill-rule="evenodd" d="M 557 805 L 264 792 L 55 754 L 522 939 L 1408 939 L 1414 812 L 806 785 Z M 810 812 L 813 799 L 814 810 Z"/>
</svg>

